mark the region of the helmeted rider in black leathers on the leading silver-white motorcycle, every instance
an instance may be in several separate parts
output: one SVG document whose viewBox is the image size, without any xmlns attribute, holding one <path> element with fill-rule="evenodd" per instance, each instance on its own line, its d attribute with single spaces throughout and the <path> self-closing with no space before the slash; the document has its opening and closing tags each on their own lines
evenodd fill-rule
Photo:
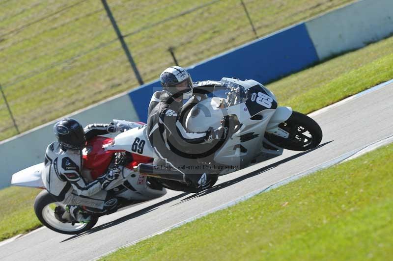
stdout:
<svg viewBox="0 0 393 261">
<path fill-rule="evenodd" d="M 211 175 L 205 172 L 200 160 L 188 157 L 188 153 L 194 151 L 195 145 L 225 139 L 227 128 L 213 130 L 211 127 L 206 132 L 189 132 L 184 123 L 186 112 L 213 92 L 214 87 L 220 86 L 220 81 L 193 83 L 190 74 L 179 66 L 168 67 L 160 75 L 160 80 L 164 90 L 155 92 L 149 104 L 148 139 L 159 158 L 181 172 L 185 182 L 201 189 L 212 186 Z M 183 105 L 183 100 L 191 96 Z"/>
</svg>

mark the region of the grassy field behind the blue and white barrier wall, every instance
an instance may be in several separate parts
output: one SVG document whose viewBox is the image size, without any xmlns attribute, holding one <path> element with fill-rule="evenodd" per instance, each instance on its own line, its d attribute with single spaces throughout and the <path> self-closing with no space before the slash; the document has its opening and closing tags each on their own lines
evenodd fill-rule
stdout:
<svg viewBox="0 0 393 261">
<path fill-rule="evenodd" d="M 258 36 L 352 1 L 244 0 Z M 255 38 L 240 0 L 108 2 L 145 82 L 172 65 L 169 47 L 188 66 Z M 7 0 L 0 10 L 0 84 L 21 131 L 138 86 L 101 1 Z M 1 98 L 0 140 L 15 134 Z"/>
</svg>

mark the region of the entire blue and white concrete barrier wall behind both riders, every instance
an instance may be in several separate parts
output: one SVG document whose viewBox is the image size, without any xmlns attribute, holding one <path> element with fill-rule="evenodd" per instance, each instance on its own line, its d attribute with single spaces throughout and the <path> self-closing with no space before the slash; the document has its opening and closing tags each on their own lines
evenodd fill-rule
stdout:
<svg viewBox="0 0 393 261">
<path fill-rule="evenodd" d="M 187 69 L 195 81 L 238 77 L 266 83 L 391 35 L 392 19 L 393 0 L 360 0 Z M 152 81 L 68 116 L 84 125 L 113 118 L 145 122 L 151 95 L 160 89 L 159 81 Z M 55 138 L 55 122 L 0 142 L 0 188 L 10 184 L 13 173 L 43 161 L 46 146 Z"/>
</svg>

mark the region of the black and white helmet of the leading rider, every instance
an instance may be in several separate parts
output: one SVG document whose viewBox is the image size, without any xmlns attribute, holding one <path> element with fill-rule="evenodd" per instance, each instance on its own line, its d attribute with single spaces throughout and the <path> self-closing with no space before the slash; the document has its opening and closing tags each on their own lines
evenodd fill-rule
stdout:
<svg viewBox="0 0 393 261">
<path fill-rule="evenodd" d="M 160 80 L 164 90 L 174 98 L 183 95 L 183 99 L 188 99 L 193 94 L 193 80 L 190 74 L 180 66 L 165 69 L 160 75 Z"/>
</svg>

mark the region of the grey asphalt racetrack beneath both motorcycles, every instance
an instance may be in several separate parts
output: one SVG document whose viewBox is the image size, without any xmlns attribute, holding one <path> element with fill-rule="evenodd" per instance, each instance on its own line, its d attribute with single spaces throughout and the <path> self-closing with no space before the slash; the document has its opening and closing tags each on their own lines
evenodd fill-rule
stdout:
<svg viewBox="0 0 393 261">
<path fill-rule="evenodd" d="M 95 228 L 83 235 L 38 229 L 0 246 L 0 260 L 91 260 L 392 136 L 393 83 L 312 117 L 324 134 L 317 149 L 284 151 L 280 157 L 220 177 L 213 188 L 199 194 L 168 191 L 162 198 L 101 217 Z"/>
</svg>

